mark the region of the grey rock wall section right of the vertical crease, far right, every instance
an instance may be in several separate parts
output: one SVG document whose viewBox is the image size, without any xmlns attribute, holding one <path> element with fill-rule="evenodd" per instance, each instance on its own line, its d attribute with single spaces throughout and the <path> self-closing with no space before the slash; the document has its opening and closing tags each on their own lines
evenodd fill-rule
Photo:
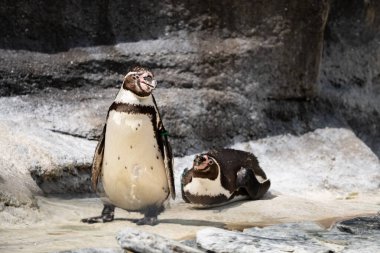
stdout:
<svg viewBox="0 0 380 253">
<path fill-rule="evenodd" d="M 320 96 L 380 156 L 380 2 L 332 1 Z"/>
</svg>

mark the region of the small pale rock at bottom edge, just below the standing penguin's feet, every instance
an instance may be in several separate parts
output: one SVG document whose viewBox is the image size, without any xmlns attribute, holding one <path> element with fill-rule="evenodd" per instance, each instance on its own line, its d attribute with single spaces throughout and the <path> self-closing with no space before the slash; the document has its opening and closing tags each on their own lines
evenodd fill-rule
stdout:
<svg viewBox="0 0 380 253">
<path fill-rule="evenodd" d="M 170 240 L 157 234 L 145 232 L 135 228 L 127 228 L 117 234 L 116 239 L 124 250 L 132 252 L 184 252 L 200 253 L 202 251 L 191 248 L 177 241 Z"/>
</svg>

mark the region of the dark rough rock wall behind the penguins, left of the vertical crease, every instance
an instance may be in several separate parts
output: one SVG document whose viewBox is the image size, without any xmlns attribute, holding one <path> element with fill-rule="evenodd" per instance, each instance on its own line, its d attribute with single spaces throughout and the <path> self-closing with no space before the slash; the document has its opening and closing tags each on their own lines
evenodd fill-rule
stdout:
<svg viewBox="0 0 380 253">
<path fill-rule="evenodd" d="M 305 132 L 276 116 L 297 118 L 298 102 L 278 110 L 277 101 L 318 96 L 328 7 L 326 0 L 9 2 L 0 8 L 0 94 L 118 87 L 141 64 L 170 94 L 158 100 L 177 155 Z M 196 106 L 182 106 L 182 97 Z"/>
</svg>

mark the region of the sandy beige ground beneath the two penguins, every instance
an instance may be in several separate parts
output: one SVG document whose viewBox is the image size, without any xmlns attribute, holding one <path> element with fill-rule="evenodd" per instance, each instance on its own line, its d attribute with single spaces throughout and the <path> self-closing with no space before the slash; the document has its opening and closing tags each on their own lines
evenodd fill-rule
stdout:
<svg viewBox="0 0 380 253">
<path fill-rule="evenodd" d="M 337 220 L 376 214 L 380 210 L 379 193 L 354 194 L 343 199 L 323 193 L 305 197 L 267 194 L 264 200 L 238 201 L 212 209 L 195 209 L 176 200 L 159 216 L 158 225 L 139 228 L 176 240 L 193 239 L 198 230 L 207 226 L 242 230 L 285 222 L 317 221 L 328 228 Z M 25 210 L 26 213 L 19 214 L 24 217 L 22 223 L 2 222 L 0 252 L 118 248 L 116 233 L 128 226 L 135 227 L 131 219 L 141 217 L 117 209 L 114 222 L 81 223 L 81 218 L 100 213 L 102 204 L 97 198 L 38 197 L 38 205 L 38 211 Z M 0 213 L 1 219 L 6 218 L 6 213 Z"/>
</svg>

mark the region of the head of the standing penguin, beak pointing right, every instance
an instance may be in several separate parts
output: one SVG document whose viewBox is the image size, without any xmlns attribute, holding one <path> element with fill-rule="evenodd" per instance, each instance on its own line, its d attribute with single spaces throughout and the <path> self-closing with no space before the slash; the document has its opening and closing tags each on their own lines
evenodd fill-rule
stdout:
<svg viewBox="0 0 380 253">
<path fill-rule="evenodd" d="M 134 67 L 125 75 L 123 89 L 130 90 L 140 97 L 149 96 L 156 88 L 153 73 L 143 67 Z"/>
</svg>

